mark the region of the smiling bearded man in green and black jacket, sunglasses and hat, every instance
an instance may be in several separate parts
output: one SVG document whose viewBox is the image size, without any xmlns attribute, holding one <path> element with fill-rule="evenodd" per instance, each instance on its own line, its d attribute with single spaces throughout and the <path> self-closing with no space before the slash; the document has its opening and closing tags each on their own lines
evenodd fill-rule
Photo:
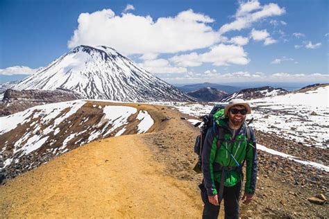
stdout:
<svg viewBox="0 0 329 219">
<path fill-rule="evenodd" d="M 242 166 L 246 161 L 246 183 L 242 201 L 253 199 L 257 177 L 255 134 L 244 123 L 251 108 L 242 99 L 233 99 L 224 109 L 224 116 L 208 129 L 201 152 L 204 202 L 203 218 L 217 218 L 221 200 L 225 218 L 239 218 L 239 197 L 242 189 Z"/>
</svg>

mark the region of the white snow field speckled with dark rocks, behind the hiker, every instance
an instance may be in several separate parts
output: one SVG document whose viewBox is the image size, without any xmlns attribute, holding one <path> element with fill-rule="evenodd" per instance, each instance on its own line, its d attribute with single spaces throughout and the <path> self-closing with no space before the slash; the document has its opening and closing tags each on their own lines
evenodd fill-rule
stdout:
<svg viewBox="0 0 329 219">
<path fill-rule="evenodd" d="M 273 132 L 281 137 L 301 142 L 306 146 L 318 146 L 328 150 L 329 140 L 329 86 L 305 93 L 286 94 L 248 101 L 254 109 L 247 119 L 254 118 L 255 130 Z M 180 112 L 192 116 L 209 114 L 212 105 L 183 104 L 175 106 Z M 198 120 L 189 120 L 193 125 Z M 301 164 L 314 166 L 329 172 L 329 167 L 312 161 L 303 161 L 258 144 L 258 150 L 286 157 Z M 324 152 L 324 151 L 323 151 Z"/>
</svg>

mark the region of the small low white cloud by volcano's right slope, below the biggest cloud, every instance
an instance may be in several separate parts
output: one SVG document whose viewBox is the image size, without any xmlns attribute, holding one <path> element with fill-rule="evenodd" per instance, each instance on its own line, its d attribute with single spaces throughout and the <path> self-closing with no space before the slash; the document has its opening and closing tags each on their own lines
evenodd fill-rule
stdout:
<svg viewBox="0 0 329 219">
<path fill-rule="evenodd" d="M 139 64 L 140 67 L 146 69 L 151 73 L 185 73 L 187 72 L 186 68 L 183 67 L 173 67 L 165 59 L 158 60 L 146 60 L 143 63 Z"/>
</svg>

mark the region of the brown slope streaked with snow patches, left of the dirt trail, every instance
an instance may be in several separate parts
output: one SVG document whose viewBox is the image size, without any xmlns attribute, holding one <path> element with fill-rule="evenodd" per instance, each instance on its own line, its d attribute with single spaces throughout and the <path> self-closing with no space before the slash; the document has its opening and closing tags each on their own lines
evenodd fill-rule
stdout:
<svg viewBox="0 0 329 219">
<path fill-rule="evenodd" d="M 90 141 L 144 133 L 153 121 L 137 108 L 76 100 L 1 117 L 0 170 L 10 179 Z"/>
</svg>

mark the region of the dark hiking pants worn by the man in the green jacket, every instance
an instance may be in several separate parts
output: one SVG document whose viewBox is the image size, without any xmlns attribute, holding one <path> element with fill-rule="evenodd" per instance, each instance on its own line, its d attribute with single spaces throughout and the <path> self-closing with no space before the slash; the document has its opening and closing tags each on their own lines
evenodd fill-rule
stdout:
<svg viewBox="0 0 329 219">
<path fill-rule="evenodd" d="M 216 184 L 216 189 L 219 191 L 219 183 Z M 218 218 L 219 206 L 211 204 L 208 200 L 208 193 L 203 184 L 200 184 L 201 198 L 205 204 L 203 207 L 202 218 Z M 239 196 L 241 190 L 241 182 L 235 186 L 226 187 L 223 190 L 223 201 L 225 218 L 239 218 Z"/>
</svg>

